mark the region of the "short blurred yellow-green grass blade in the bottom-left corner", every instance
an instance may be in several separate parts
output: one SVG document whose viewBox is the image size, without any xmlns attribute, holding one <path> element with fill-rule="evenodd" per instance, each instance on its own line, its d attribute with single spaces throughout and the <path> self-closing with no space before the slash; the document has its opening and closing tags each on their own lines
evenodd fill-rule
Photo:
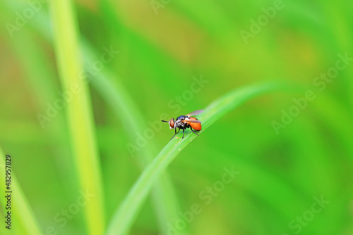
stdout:
<svg viewBox="0 0 353 235">
<path fill-rule="evenodd" d="M 0 147 L 0 175 L 1 179 L 5 181 L 5 154 Z M 1 192 L 4 193 L 8 191 L 5 188 L 5 182 L 1 182 Z M 30 204 L 25 198 L 25 194 L 18 183 L 15 173 L 13 172 L 13 167 L 11 167 L 11 230 L 5 228 L 7 224 L 4 222 L 1 224 L 0 231 L 1 234 L 11 234 L 10 231 L 13 231 L 13 234 L 42 234 L 40 228 L 38 227 L 37 221 L 35 219 L 34 213 L 30 208 Z M 4 211 L 4 214 L 8 211 L 6 210 L 6 199 L 4 196 L 0 197 L 1 210 Z M 3 217 L 4 218 L 4 217 Z M 3 219 L 5 221 L 5 219 Z"/>
</svg>

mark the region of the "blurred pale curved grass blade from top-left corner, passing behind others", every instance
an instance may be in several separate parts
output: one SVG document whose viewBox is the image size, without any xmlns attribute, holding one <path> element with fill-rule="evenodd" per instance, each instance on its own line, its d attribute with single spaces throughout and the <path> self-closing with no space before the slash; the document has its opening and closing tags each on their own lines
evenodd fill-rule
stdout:
<svg viewBox="0 0 353 235">
<path fill-rule="evenodd" d="M 11 11 L 20 11 L 20 5 L 12 4 L 11 1 L 5 1 L 7 8 Z M 32 26 L 34 30 L 47 39 L 47 41 L 52 42 L 52 34 L 50 33 L 49 21 L 47 20 L 47 14 L 42 11 L 37 13 L 36 18 L 32 19 Z M 92 63 L 98 58 L 98 53 L 93 50 L 88 42 L 84 39 L 80 42 L 80 48 L 83 51 L 83 58 L 88 63 Z M 133 103 L 128 93 L 124 90 L 124 87 L 120 84 L 115 84 L 112 82 L 112 77 L 116 77 L 108 68 L 104 68 L 102 72 L 97 75 L 97 80 L 92 80 L 92 87 L 97 89 L 97 91 L 102 95 L 102 98 L 112 107 L 114 113 L 123 120 L 127 120 L 128 123 L 124 125 L 127 127 L 127 133 L 130 134 L 138 132 L 140 129 L 145 129 L 138 123 L 143 123 L 142 115 L 138 112 L 136 105 Z M 126 118 L 128 117 L 128 118 Z M 132 136 L 132 138 L 135 136 Z M 152 161 L 152 147 L 147 146 L 148 149 L 142 149 L 140 151 L 140 160 L 143 162 L 141 165 L 147 165 Z M 153 190 L 152 198 L 153 205 L 155 206 L 155 212 L 159 220 L 161 230 L 166 233 L 167 222 L 170 218 L 177 216 L 179 211 L 179 205 L 177 203 L 177 197 L 174 193 L 174 187 L 170 182 L 169 175 L 164 174 L 161 177 L 160 182 L 156 185 Z M 166 206 L 167 205 L 167 206 Z M 164 226 L 164 227 L 163 227 Z M 182 234 L 182 233 L 181 233 Z"/>
</svg>

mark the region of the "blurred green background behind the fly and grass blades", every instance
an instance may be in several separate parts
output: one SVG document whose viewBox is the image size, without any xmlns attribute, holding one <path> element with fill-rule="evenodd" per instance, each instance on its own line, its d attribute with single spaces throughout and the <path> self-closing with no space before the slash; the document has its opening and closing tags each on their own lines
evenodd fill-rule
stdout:
<svg viewBox="0 0 353 235">
<path fill-rule="evenodd" d="M 70 30 L 54 33 L 53 1 L 59 0 L 0 3 L 0 146 L 11 154 L 23 191 L 13 200 L 27 198 L 28 216 L 42 234 L 95 234 L 85 206 L 71 206 L 85 191 L 78 173 L 85 160 L 75 160 L 70 134 L 72 103 L 43 125 L 38 120 L 67 91 L 55 44 Z M 237 87 L 280 80 L 292 89 L 227 113 L 181 151 L 168 167 L 174 197 L 158 205 L 177 215 L 161 222 L 156 201 L 148 200 L 129 234 L 353 234 L 351 7 L 349 1 L 73 1 L 82 63 L 75 56 L 64 61 L 81 64 L 78 77 L 88 78 L 88 113 L 78 114 L 93 123 L 97 172 L 86 174 L 99 182 L 102 173 L 104 218 L 96 216 L 103 227 L 143 170 L 140 155 L 157 155 L 174 134 L 161 115 L 177 118 Z M 112 49 L 119 53 L 104 62 Z M 325 73 L 333 79 L 318 78 Z M 304 101 L 306 91 L 312 101 Z M 293 108 L 293 99 L 305 107 Z M 283 110 L 299 114 L 276 130 Z M 139 137 L 149 130 L 150 137 Z M 239 174 L 217 193 L 205 192 L 217 187 L 224 167 Z M 322 198 L 328 203 L 314 204 Z M 201 212 L 187 222 L 194 204 Z M 70 209 L 66 222 L 55 220 Z M 16 220 L 2 234 L 36 234 L 16 228 Z"/>
</svg>

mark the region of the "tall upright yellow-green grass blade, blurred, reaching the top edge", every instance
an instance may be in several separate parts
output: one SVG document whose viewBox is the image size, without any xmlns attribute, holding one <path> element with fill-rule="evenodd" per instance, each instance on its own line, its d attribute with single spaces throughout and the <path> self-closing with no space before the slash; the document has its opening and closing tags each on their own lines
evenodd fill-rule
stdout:
<svg viewBox="0 0 353 235">
<path fill-rule="evenodd" d="M 72 100 L 66 103 L 68 129 L 71 135 L 73 157 L 76 159 L 80 187 L 95 194 L 85 205 L 88 234 L 104 232 L 103 192 L 100 161 L 97 154 L 92 107 L 88 85 L 80 79 L 78 30 L 73 3 L 70 0 L 50 2 L 54 27 L 54 45 L 63 92 L 69 91 Z M 73 89 L 73 86 L 78 89 Z M 74 93 L 73 90 L 76 90 Z"/>
</svg>

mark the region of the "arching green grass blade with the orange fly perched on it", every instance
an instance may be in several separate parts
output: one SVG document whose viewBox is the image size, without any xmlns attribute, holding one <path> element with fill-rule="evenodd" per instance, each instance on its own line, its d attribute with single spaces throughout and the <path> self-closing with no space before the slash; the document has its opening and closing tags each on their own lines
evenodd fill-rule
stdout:
<svg viewBox="0 0 353 235">
<path fill-rule="evenodd" d="M 205 111 L 201 115 L 198 115 L 198 119 L 203 123 L 203 130 L 200 133 L 204 132 L 205 129 L 210 127 L 210 125 L 222 118 L 223 115 L 229 113 L 230 110 L 241 105 L 241 103 L 265 92 L 280 89 L 281 87 L 284 87 L 284 84 L 257 84 L 241 89 L 235 89 L 234 91 L 229 92 L 229 94 L 220 97 L 220 99 L 217 99 L 211 103 L 210 106 L 205 108 Z M 184 139 L 174 138 L 172 141 L 169 141 L 162 151 L 160 151 L 155 160 L 145 168 L 139 179 L 133 185 L 131 191 L 128 193 L 128 196 L 126 196 L 121 206 L 116 210 L 112 221 L 109 222 L 107 230 L 108 235 L 121 235 L 128 233 L 128 230 L 133 224 L 133 220 L 138 214 L 140 206 L 148 196 L 153 184 L 181 150 L 196 137 L 196 134 L 188 132 Z"/>
</svg>

